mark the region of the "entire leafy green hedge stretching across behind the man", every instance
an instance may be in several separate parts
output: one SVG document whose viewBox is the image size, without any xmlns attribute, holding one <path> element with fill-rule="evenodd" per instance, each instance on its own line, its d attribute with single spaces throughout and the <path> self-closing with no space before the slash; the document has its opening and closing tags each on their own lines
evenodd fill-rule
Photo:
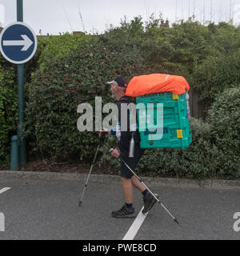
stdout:
<svg viewBox="0 0 240 256">
<path fill-rule="evenodd" d="M 161 19 L 142 18 L 104 35 L 63 34 L 38 38 L 38 52 L 26 64 L 26 135 L 28 152 L 54 160 L 91 160 L 98 134 L 80 133 L 77 107 L 82 102 L 112 102 L 106 81 L 149 72 L 181 74 L 202 99 L 215 101 L 207 122 L 192 119 L 193 142 L 187 150 L 146 150 L 140 174 L 181 178 L 239 178 L 240 27 L 227 23 L 202 26 L 191 20 L 170 28 Z M 0 157 L 8 162 L 10 136 L 17 129 L 14 68 L 0 58 Z M 150 68 L 151 70 L 150 70 Z M 37 70 L 37 71 L 36 71 Z M 227 100 L 226 100 L 227 98 Z M 234 120 L 234 122 L 232 122 Z M 102 146 L 99 165 L 108 172 L 119 165 Z M 161 159 L 161 161 L 159 161 Z M 113 168 L 114 167 L 114 168 Z M 117 171 L 118 172 L 118 171 Z"/>
</svg>

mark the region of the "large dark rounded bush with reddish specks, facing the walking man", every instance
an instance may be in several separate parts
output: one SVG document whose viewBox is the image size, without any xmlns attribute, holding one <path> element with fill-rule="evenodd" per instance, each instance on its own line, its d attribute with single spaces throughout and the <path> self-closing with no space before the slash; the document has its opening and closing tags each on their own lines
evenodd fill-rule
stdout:
<svg viewBox="0 0 240 256">
<path fill-rule="evenodd" d="M 82 102 L 94 106 L 95 96 L 102 104 L 113 102 L 106 81 L 119 75 L 131 78 L 146 70 L 138 50 L 105 44 L 94 39 L 64 58 L 53 58 L 46 70 L 38 70 L 28 85 L 26 134 L 31 153 L 44 158 L 90 159 L 97 134 L 80 133 L 77 107 Z"/>
</svg>

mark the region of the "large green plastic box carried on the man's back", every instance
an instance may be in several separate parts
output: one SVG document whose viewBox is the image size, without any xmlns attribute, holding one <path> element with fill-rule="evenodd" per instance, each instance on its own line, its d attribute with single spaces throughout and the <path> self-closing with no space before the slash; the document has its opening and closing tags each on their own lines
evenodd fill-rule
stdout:
<svg viewBox="0 0 240 256">
<path fill-rule="evenodd" d="M 142 149 L 186 149 L 190 146 L 192 134 L 187 117 L 186 93 L 148 94 L 137 97 L 136 103 Z"/>
</svg>

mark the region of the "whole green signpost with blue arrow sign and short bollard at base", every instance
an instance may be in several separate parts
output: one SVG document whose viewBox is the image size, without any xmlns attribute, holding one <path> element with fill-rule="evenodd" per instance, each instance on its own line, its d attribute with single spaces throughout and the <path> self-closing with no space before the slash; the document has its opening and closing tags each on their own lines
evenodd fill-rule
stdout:
<svg viewBox="0 0 240 256">
<path fill-rule="evenodd" d="M 17 22 L 6 26 L 0 34 L 0 50 L 3 57 L 18 65 L 18 137 L 14 135 L 11 140 L 10 170 L 18 170 L 19 166 L 26 166 L 26 138 L 22 131 L 24 124 L 24 63 L 33 58 L 38 46 L 34 30 L 23 23 L 22 0 L 17 0 L 17 20 Z M 16 145 L 19 145 L 18 149 L 15 148 Z"/>
</svg>

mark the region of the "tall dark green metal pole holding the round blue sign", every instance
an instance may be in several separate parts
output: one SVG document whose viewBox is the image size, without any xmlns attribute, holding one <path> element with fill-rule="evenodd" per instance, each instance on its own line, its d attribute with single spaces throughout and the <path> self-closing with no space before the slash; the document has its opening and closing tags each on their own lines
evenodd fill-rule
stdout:
<svg viewBox="0 0 240 256">
<path fill-rule="evenodd" d="M 17 21 L 23 22 L 23 0 L 17 0 Z M 26 138 L 22 136 L 24 123 L 24 64 L 18 64 L 18 138 L 19 164 L 26 166 Z"/>
</svg>

